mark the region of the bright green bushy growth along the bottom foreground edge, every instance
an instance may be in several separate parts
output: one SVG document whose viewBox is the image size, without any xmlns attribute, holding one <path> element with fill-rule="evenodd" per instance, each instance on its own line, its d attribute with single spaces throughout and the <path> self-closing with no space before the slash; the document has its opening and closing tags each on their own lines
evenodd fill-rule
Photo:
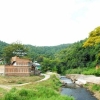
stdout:
<svg viewBox="0 0 100 100">
<path fill-rule="evenodd" d="M 31 89 L 10 91 L 5 95 L 4 100 L 73 100 L 73 98 L 62 96 L 47 87 L 38 87 L 37 91 Z"/>
</svg>

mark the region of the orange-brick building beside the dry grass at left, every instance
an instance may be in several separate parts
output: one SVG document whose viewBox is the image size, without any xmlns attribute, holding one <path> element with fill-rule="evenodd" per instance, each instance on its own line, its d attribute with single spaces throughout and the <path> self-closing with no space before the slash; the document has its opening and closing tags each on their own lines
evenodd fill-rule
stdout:
<svg viewBox="0 0 100 100">
<path fill-rule="evenodd" d="M 1 72 L 4 72 L 6 76 L 30 76 L 40 74 L 40 71 L 36 69 L 36 66 L 31 60 L 17 56 L 12 57 L 11 64 L 5 65 L 2 69 Z"/>
</svg>

